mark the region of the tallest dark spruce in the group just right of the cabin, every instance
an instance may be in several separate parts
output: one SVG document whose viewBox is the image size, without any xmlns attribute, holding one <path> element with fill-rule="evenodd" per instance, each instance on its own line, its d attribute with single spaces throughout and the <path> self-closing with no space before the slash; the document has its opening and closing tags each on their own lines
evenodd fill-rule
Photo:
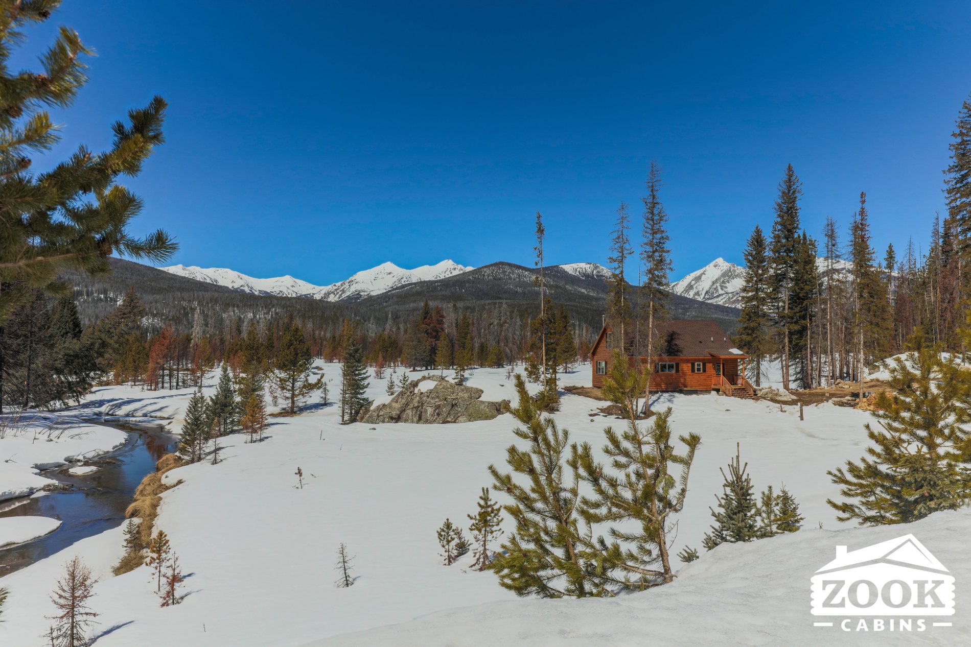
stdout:
<svg viewBox="0 0 971 647">
<path fill-rule="evenodd" d="M 783 388 L 789 388 L 789 363 L 791 361 L 789 336 L 792 331 L 793 312 L 790 308 L 792 283 L 796 274 L 796 252 L 799 243 L 799 199 L 802 182 L 796 177 L 792 165 L 779 182 L 779 198 L 776 200 L 776 219 L 772 223 L 770 276 L 774 296 L 773 317 L 779 331 L 782 349 Z"/>
</svg>

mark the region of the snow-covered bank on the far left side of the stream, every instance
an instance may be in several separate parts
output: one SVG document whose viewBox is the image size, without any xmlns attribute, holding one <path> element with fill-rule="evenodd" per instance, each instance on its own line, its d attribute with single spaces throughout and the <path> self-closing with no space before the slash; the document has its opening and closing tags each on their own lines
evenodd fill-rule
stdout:
<svg viewBox="0 0 971 647">
<path fill-rule="evenodd" d="M 11 414 L 0 434 L 0 501 L 26 497 L 53 483 L 39 469 L 57 468 L 112 451 L 124 444 L 124 432 L 89 422 L 78 411 Z"/>
</svg>

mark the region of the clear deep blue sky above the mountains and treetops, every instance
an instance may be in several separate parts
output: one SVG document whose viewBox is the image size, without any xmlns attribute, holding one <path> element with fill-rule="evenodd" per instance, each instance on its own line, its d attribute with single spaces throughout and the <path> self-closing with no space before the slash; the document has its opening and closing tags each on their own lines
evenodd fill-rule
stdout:
<svg viewBox="0 0 971 647">
<path fill-rule="evenodd" d="M 653 6 L 651 6 L 653 4 Z M 732 5 L 735 5 L 734 7 Z M 173 262 L 329 283 L 385 260 L 604 262 L 665 172 L 675 272 L 741 262 L 792 163 L 803 223 L 926 248 L 971 92 L 971 3 L 67 0 L 97 49 L 63 155 L 155 93 L 167 143 L 129 182 Z M 26 64 L 28 60 L 23 59 Z"/>
</svg>

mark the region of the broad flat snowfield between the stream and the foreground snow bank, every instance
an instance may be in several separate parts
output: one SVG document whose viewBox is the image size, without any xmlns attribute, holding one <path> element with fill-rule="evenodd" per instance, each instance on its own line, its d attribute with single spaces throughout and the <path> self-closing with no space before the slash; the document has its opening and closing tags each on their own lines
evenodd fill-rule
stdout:
<svg viewBox="0 0 971 647">
<path fill-rule="evenodd" d="M 322 367 L 331 394 L 337 393 L 340 367 Z M 415 379 L 421 374 L 411 376 Z M 446 372 L 446 376 L 450 374 Z M 471 372 L 468 383 L 484 389 L 485 400 L 513 400 L 515 391 L 505 375 L 505 369 L 479 369 Z M 589 367 L 561 378 L 563 385 L 588 385 Z M 385 381 L 386 376 L 371 380 L 369 396 L 379 403 L 389 399 Z M 172 428 L 178 430 L 190 395 L 190 389 L 149 393 L 105 387 L 81 408 L 117 416 L 173 418 Z M 555 417 L 570 430 L 573 440 L 599 447 L 603 428 L 619 423 L 591 416 L 603 404 L 564 394 L 562 409 Z M 711 522 L 709 505 L 720 492 L 719 469 L 734 456 L 736 443 L 741 443 L 754 486 L 761 490 L 770 484 L 785 484 L 806 517 L 807 530 L 797 539 L 772 539 L 772 548 L 778 546 L 785 552 L 791 546 L 793 551 L 805 551 L 806 563 L 821 565 L 831 558 L 829 532 L 839 524 L 825 501 L 838 493 L 825 472 L 863 454 L 863 424 L 870 419 L 867 413 L 821 404 L 807 407 L 806 419 L 800 422 L 796 407 L 780 410 L 778 404 L 715 395 L 658 396 L 654 406 L 665 405 L 674 408 L 672 424 L 677 434 L 696 432 L 702 437 L 675 550 L 686 544 L 700 545 Z M 220 450 L 223 462 L 217 466 L 197 464 L 165 475 L 167 482 L 183 481 L 162 495 L 158 526 L 169 534 L 185 572 L 190 573 L 184 603 L 159 608 L 144 567 L 111 576 L 110 568 L 121 554 L 121 535 L 116 529 L 0 579 L 0 586 L 11 590 L 7 622 L 0 624 L 0 644 L 34 644 L 46 628 L 50 589 L 63 563 L 74 554 L 84 557 L 102 578 L 93 606 L 102 614 L 99 630 L 112 631 L 98 640 L 99 647 L 298 646 L 341 633 L 406 623 L 454 607 L 503 600 L 513 607 L 522 605 L 517 608 L 523 614 L 547 612 L 540 609 L 551 614 L 574 613 L 562 606 L 565 602 L 517 600 L 498 586 L 491 573 L 469 570 L 471 556 L 455 566 L 441 566 L 435 531 L 446 517 L 466 525 L 465 515 L 475 511 L 480 488 L 491 485 L 488 465 L 505 468 L 506 447 L 517 440 L 511 432 L 511 416 L 461 425 L 338 423 L 337 406 L 312 405 L 296 417 L 272 418 L 269 437 L 261 443 L 244 443 L 242 436 L 225 438 Z M 297 468 L 304 473 L 303 489 L 296 487 Z M 808 537 L 805 544 L 800 542 L 803 537 Z M 865 537 L 860 534 L 847 541 L 864 541 Z M 355 556 L 353 574 L 358 579 L 350 589 L 333 586 L 337 577 L 333 564 L 341 542 Z M 825 550 L 820 548 L 811 559 L 809 552 L 816 551 L 818 544 L 826 544 Z M 729 547 L 716 553 L 733 550 Z M 719 589 L 725 596 L 732 590 L 738 594 L 734 613 L 723 614 L 725 622 L 762 622 L 765 614 L 755 601 L 760 598 L 752 597 L 748 607 L 746 590 L 754 586 L 756 577 L 769 577 L 766 573 L 772 566 L 764 564 L 762 570 L 750 574 L 736 572 L 731 562 L 722 561 L 716 553 L 703 556 L 686 574 L 710 571 L 711 577 L 725 580 Z M 758 562 L 757 555 L 753 552 L 742 564 Z M 801 568 L 802 559 L 793 556 L 791 568 Z M 948 562 L 946 555 L 941 559 Z M 789 566 L 777 566 L 779 577 L 788 577 Z M 807 593 L 810 574 L 802 574 L 804 581 L 798 584 Z M 698 584 L 692 590 L 703 589 Z M 660 599 L 666 591 L 648 595 Z M 617 609 L 618 604 L 627 604 L 625 600 L 610 602 L 610 607 L 585 607 L 585 601 L 576 608 L 598 613 L 594 608 Z M 711 604 L 720 601 L 712 598 Z M 645 607 L 655 603 L 659 602 L 645 602 Z M 705 602 L 698 598 L 697 604 L 701 607 Z M 748 611 L 741 613 L 741 607 Z M 491 606 L 480 608 L 482 613 L 496 612 Z M 500 608 L 500 613 L 509 612 L 505 606 Z M 794 612 L 807 608 L 808 597 Z M 475 612 L 469 612 L 473 615 Z M 790 616 L 783 618 L 783 622 L 789 621 Z M 629 631 L 636 627 L 622 619 L 619 623 Z M 594 632 L 586 644 L 643 644 L 651 635 L 649 628 L 645 626 L 642 635 L 632 634 L 629 639 L 620 639 L 618 634 L 617 639 L 600 640 L 597 636 L 604 634 Z M 382 635 L 357 644 L 399 643 L 387 637 L 392 634 Z M 517 644 L 508 632 L 502 637 Z M 445 643 L 426 639 L 421 644 Z"/>
</svg>

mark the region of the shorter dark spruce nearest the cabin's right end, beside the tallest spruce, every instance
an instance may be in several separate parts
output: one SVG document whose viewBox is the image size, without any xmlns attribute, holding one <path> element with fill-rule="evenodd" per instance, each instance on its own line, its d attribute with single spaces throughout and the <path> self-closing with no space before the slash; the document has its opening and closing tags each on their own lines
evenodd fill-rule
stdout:
<svg viewBox="0 0 971 647">
<path fill-rule="evenodd" d="M 742 312 L 735 341 L 752 357 L 753 380 L 761 386 L 762 362 L 772 352 L 772 292 L 767 243 L 762 229 L 755 225 L 745 247 L 745 282 L 741 289 Z"/>
</svg>

